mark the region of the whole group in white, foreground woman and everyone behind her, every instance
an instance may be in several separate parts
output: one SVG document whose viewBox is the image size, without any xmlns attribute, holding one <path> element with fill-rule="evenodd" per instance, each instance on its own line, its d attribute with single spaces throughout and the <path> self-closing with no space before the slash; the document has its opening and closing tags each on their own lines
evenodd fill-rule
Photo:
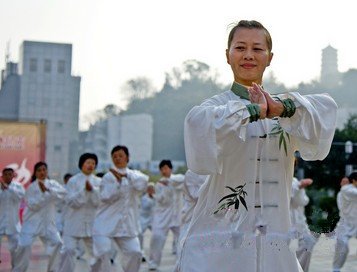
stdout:
<svg viewBox="0 0 357 272">
<path fill-rule="evenodd" d="M 64 186 L 48 178 L 44 162 L 35 165 L 26 192 L 11 182 L 13 171 L 4 169 L 0 235 L 8 236 L 13 271 L 26 271 L 36 237 L 50 256 L 48 271 L 74 271 L 83 247 L 91 271 L 110 271 L 117 248 L 124 271 L 139 271 L 143 261 L 156 271 L 170 231 L 175 272 L 308 271 L 319 235 L 306 222 L 305 188 L 312 180 L 294 178 L 295 152 L 309 161 L 328 155 L 337 105 L 328 94 L 265 90 L 272 46 L 269 31 L 257 21 L 242 20 L 231 29 L 226 60 L 234 82 L 187 114 L 185 175 L 172 173 L 171 161 L 162 160 L 161 178 L 153 184 L 128 168 L 125 146 L 113 148 L 113 167 L 103 175 L 95 174 L 97 156 L 83 154 L 80 172 Z M 357 235 L 356 178 L 356 173 L 345 178 L 348 184 L 337 197 L 334 272 L 346 260 L 348 240 Z M 23 197 L 20 231 L 16 207 Z M 58 203 L 62 216 L 56 220 Z"/>
</svg>

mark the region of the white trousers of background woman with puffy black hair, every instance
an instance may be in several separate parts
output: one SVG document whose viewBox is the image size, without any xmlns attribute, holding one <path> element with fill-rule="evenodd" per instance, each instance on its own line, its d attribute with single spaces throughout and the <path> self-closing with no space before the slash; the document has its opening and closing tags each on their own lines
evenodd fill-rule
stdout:
<svg viewBox="0 0 357 272">
<path fill-rule="evenodd" d="M 61 250 L 60 264 L 58 272 L 74 272 L 76 266 L 76 251 L 78 243 L 82 240 L 90 256 L 89 265 L 92 272 L 99 271 L 98 260 L 93 255 L 92 237 L 63 236 L 63 248 Z"/>
</svg>

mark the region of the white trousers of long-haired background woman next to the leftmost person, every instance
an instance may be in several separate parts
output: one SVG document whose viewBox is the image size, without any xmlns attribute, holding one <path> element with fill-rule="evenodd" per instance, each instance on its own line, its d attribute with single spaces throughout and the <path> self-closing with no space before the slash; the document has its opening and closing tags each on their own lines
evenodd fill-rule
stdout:
<svg viewBox="0 0 357 272">
<path fill-rule="evenodd" d="M 12 272 L 25 272 L 27 270 L 30 264 L 31 246 L 37 236 L 38 235 L 30 233 L 20 233 L 18 247 L 15 252 L 16 264 Z M 47 271 L 56 271 L 62 239 L 58 232 L 49 232 L 46 235 L 41 236 L 41 240 L 45 241 L 45 243 L 52 248 L 51 255 L 49 255 Z"/>
</svg>

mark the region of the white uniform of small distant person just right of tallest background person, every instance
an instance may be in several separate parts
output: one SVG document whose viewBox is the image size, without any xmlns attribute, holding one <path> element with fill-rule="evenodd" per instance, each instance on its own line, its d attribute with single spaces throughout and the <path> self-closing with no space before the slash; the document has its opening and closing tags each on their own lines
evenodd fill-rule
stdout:
<svg viewBox="0 0 357 272">
<path fill-rule="evenodd" d="M 145 193 L 141 197 L 141 205 L 140 205 L 140 225 L 141 232 L 139 234 L 140 247 L 143 252 L 144 248 L 144 233 L 147 229 L 152 229 L 152 220 L 154 216 L 154 206 L 155 206 L 155 198 L 150 197 L 149 194 Z"/>
</svg>

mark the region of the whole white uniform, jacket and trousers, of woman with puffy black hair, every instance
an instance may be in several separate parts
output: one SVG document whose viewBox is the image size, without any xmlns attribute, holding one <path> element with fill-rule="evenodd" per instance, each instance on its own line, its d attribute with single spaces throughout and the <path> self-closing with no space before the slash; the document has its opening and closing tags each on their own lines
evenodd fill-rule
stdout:
<svg viewBox="0 0 357 272">
<path fill-rule="evenodd" d="M 85 189 L 86 181 L 92 191 Z M 93 257 L 92 229 L 97 207 L 100 203 L 99 186 L 101 179 L 91 174 L 80 172 L 71 177 L 66 184 L 65 198 L 67 209 L 63 228 L 63 248 L 61 250 L 60 272 L 73 272 L 75 269 L 76 248 L 79 240 L 85 243 L 91 259 L 91 271 L 96 270 L 96 259 Z"/>
</svg>

